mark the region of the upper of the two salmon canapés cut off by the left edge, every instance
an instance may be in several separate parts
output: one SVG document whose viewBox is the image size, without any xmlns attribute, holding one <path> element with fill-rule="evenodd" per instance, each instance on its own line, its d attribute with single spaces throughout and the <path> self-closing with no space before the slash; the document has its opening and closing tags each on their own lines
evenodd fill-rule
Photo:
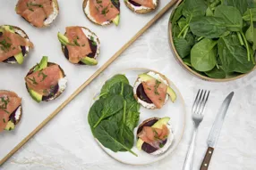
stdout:
<svg viewBox="0 0 256 170">
<path fill-rule="evenodd" d="M 0 62 L 22 64 L 32 47 L 29 36 L 21 28 L 0 26 Z"/>
</svg>

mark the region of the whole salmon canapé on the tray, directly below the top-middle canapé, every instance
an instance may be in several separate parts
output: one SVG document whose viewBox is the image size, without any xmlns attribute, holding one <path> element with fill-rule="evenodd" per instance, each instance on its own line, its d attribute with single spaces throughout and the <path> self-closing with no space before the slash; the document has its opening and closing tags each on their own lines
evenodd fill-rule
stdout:
<svg viewBox="0 0 256 170">
<path fill-rule="evenodd" d="M 97 65 L 100 44 L 98 36 L 83 27 L 67 27 L 64 35 L 58 33 L 62 51 L 73 64 Z"/>
</svg>

